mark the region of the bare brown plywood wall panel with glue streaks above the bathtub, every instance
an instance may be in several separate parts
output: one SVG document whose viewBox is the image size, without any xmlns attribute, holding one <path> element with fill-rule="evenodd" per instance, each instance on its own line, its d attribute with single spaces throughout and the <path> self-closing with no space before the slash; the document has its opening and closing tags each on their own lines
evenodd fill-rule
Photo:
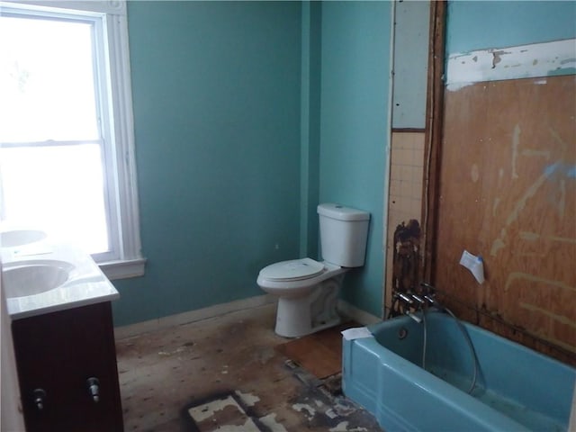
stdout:
<svg viewBox="0 0 576 432">
<path fill-rule="evenodd" d="M 556 355 L 521 340 L 570 363 L 576 363 L 575 94 L 576 76 L 446 92 L 434 265 L 437 286 L 464 318 L 516 338 L 454 299 L 559 347 Z M 484 258 L 484 284 L 458 265 L 464 249 Z"/>
</svg>

